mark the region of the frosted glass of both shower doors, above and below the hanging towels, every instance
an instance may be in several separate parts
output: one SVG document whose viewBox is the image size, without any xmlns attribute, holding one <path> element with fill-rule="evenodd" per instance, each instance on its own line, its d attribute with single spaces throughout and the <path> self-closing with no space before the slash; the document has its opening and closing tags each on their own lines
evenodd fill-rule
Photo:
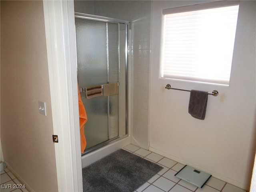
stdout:
<svg viewBox="0 0 256 192">
<path fill-rule="evenodd" d="M 119 24 L 75 18 L 80 88 L 119 80 Z M 103 90 L 104 91 L 104 90 Z M 86 150 L 118 137 L 118 95 L 86 98 Z"/>
</svg>

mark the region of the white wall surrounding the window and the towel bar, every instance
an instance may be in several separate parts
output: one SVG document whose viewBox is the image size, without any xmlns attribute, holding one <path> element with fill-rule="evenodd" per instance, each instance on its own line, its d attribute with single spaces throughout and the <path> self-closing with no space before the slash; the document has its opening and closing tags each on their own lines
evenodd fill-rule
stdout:
<svg viewBox="0 0 256 192">
<path fill-rule="evenodd" d="M 162 9 L 202 1 L 153 1 L 150 77 L 150 149 L 207 170 L 218 178 L 248 189 L 255 144 L 256 1 L 240 1 L 229 86 L 160 77 Z M 189 92 L 212 92 L 205 120 L 188 114 Z"/>
</svg>

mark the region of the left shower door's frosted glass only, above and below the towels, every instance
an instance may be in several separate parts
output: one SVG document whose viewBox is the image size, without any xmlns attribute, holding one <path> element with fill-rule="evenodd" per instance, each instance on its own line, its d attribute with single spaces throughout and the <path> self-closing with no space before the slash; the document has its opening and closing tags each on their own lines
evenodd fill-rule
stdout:
<svg viewBox="0 0 256 192">
<path fill-rule="evenodd" d="M 106 23 L 76 18 L 78 83 L 80 87 L 108 82 Z M 86 149 L 108 140 L 108 98 L 81 98 L 88 121 L 84 126 Z"/>
</svg>

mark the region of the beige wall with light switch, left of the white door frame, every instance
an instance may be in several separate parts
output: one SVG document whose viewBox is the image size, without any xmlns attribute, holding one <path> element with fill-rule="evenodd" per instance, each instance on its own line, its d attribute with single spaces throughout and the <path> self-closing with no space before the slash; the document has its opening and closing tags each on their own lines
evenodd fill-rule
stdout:
<svg viewBox="0 0 256 192">
<path fill-rule="evenodd" d="M 43 2 L 1 0 L 0 7 L 4 160 L 32 190 L 58 191 Z"/>
</svg>

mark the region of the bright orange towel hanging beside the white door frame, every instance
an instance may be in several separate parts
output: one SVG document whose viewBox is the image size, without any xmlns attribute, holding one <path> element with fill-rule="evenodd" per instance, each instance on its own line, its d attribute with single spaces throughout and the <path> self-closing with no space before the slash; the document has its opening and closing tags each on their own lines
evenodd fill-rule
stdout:
<svg viewBox="0 0 256 192">
<path fill-rule="evenodd" d="M 84 104 L 81 100 L 81 95 L 78 86 L 78 107 L 79 107 L 79 124 L 80 124 L 80 140 L 81 140 L 81 153 L 84 152 L 86 147 L 86 139 L 84 136 L 84 124 L 87 122 L 87 115 L 84 108 Z"/>
</svg>

